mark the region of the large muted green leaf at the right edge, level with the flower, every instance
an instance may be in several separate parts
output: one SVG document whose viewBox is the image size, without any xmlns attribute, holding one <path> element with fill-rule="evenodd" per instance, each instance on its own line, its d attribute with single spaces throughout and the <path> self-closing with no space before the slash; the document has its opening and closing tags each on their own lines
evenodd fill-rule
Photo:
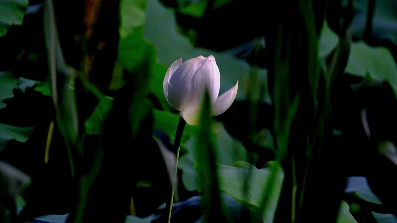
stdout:
<svg viewBox="0 0 397 223">
<path fill-rule="evenodd" d="M 385 47 L 368 46 L 363 41 L 352 42 L 345 73 L 358 77 L 369 74 L 376 81 L 387 81 L 397 97 L 397 65 Z"/>
</svg>

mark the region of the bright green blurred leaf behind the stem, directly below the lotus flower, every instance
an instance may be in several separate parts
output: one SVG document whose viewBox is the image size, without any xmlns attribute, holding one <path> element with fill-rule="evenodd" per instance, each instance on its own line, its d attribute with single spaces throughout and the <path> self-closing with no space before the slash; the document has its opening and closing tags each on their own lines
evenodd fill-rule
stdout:
<svg viewBox="0 0 397 223">
<path fill-rule="evenodd" d="M 168 112 L 153 109 L 153 129 L 158 129 L 163 131 L 170 137 L 171 143 L 175 137 L 175 132 L 178 126 L 179 115 Z M 197 135 L 198 127 L 195 125 L 186 125 L 183 131 L 181 143 L 186 142 L 186 140 L 192 136 Z"/>
</svg>

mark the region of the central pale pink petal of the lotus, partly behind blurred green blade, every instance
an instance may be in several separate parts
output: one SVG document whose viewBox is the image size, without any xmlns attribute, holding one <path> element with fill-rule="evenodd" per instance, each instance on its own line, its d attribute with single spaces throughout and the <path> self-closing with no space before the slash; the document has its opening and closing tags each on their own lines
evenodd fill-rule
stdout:
<svg viewBox="0 0 397 223">
<path fill-rule="evenodd" d="M 214 104 L 216 98 L 218 98 L 219 85 L 220 75 L 218 66 L 208 57 L 193 77 L 191 99 L 183 106 L 183 110 L 199 108 L 202 104 L 205 90 L 208 90 L 211 104 Z"/>
</svg>

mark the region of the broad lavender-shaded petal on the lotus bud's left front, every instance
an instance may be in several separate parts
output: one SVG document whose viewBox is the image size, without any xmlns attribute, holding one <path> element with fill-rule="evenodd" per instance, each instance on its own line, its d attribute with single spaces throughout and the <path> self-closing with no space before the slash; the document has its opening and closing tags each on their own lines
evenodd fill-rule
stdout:
<svg viewBox="0 0 397 223">
<path fill-rule="evenodd" d="M 180 65 L 168 82 L 168 103 L 176 110 L 182 111 L 183 106 L 190 100 L 192 80 L 200 62 L 191 58 Z"/>
</svg>

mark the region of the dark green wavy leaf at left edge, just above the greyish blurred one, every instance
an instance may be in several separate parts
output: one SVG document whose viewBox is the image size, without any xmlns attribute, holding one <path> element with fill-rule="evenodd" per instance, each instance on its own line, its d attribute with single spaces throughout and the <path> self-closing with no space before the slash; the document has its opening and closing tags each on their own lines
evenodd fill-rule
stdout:
<svg viewBox="0 0 397 223">
<path fill-rule="evenodd" d="M 0 123 L 0 151 L 6 148 L 7 142 L 10 140 L 26 142 L 32 131 L 33 127 L 18 127 Z"/>
</svg>

